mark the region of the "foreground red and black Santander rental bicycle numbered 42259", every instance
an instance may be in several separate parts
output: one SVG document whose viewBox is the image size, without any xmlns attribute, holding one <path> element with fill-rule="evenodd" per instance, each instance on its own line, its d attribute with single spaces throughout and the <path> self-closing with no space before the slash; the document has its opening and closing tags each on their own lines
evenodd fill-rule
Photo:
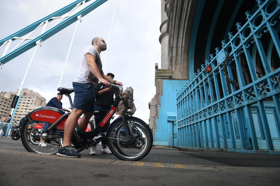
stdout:
<svg viewBox="0 0 280 186">
<path fill-rule="evenodd" d="M 77 152 L 81 152 L 83 149 L 88 149 L 91 144 L 97 144 L 106 137 L 108 147 L 113 155 L 121 160 L 138 161 L 144 158 L 152 148 L 152 131 L 143 120 L 132 116 L 136 111 L 135 106 L 109 125 L 109 121 L 115 114 L 118 104 L 125 99 L 121 94 L 122 86 L 113 83 L 110 83 L 110 85 L 115 94 L 114 105 L 98 125 L 89 124 L 85 132 L 80 131 L 77 122 L 71 145 L 75 147 Z M 72 109 L 73 103 L 70 94 L 74 92 L 74 88 L 59 87 L 57 90 L 69 98 Z M 133 89 L 129 91 L 133 95 Z M 65 113 L 54 107 L 41 107 L 30 112 L 21 128 L 20 137 L 25 149 L 34 153 L 56 154 L 63 143 L 64 123 L 70 113 L 70 111 Z M 49 123 L 50 127 L 41 137 L 44 123 Z M 107 132 L 101 133 L 103 127 L 108 125 Z M 38 146 L 40 138 L 44 139 L 46 146 Z"/>
</svg>

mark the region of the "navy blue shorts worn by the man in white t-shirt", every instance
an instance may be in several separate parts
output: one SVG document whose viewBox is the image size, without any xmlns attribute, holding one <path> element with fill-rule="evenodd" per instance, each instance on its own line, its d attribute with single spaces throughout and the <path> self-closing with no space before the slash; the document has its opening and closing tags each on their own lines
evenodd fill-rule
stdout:
<svg viewBox="0 0 280 186">
<path fill-rule="evenodd" d="M 94 112 L 95 87 L 91 83 L 72 83 L 75 91 L 73 108 Z"/>
</svg>

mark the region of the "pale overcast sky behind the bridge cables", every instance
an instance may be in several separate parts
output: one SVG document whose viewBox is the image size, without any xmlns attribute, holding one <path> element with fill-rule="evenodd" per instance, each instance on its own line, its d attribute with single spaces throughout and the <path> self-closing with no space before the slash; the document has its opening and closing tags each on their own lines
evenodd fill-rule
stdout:
<svg viewBox="0 0 280 186">
<path fill-rule="evenodd" d="M 72 2 L 74 0 L 0 1 L 0 39 Z M 93 0 L 89 3 L 91 2 Z M 134 89 L 134 103 L 137 108 L 134 116 L 146 123 L 150 113 L 148 102 L 155 95 L 155 63 L 160 67 L 160 4 L 160 0 L 117 0 L 104 69 L 105 74 L 115 74 L 115 80 L 121 81 L 124 88 L 131 86 Z M 114 5 L 115 0 L 108 0 L 83 17 L 78 24 L 61 87 L 72 88 L 81 53 L 85 47 L 91 45 L 92 38 L 103 37 L 108 43 Z M 38 47 L 26 76 L 23 88 L 40 93 L 47 102 L 57 94 L 75 26 L 76 22 L 44 41 L 42 47 Z M 0 49 L 1 56 L 4 49 L 5 47 Z M 16 91 L 20 88 L 34 49 L 35 47 L 3 65 L 0 70 L 0 91 Z M 106 51 L 101 52 L 100 56 L 104 66 Z M 74 93 L 71 96 L 73 99 Z M 62 103 L 64 108 L 70 107 L 66 96 Z"/>
</svg>

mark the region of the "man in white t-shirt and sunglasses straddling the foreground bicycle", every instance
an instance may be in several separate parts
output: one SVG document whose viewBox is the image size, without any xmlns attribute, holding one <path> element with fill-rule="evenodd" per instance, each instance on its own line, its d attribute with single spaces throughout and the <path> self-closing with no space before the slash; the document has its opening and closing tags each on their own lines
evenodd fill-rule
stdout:
<svg viewBox="0 0 280 186">
<path fill-rule="evenodd" d="M 106 49 L 107 46 L 104 39 L 95 37 L 92 40 L 92 46 L 86 47 L 82 53 L 78 74 L 73 81 L 75 90 L 73 110 L 64 125 L 63 145 L 60 146 L 57 152 L 59 156 L 69 158 L 78 158 L 81 156 L 80 153 L 77 153 L 71 147 L 71 137 L 74 133 L 76 122 L 82 114 L 83 117 L 79 122 L 81 131 L 85 131 L 88 126 L 88 122 L 94 113 L 95 85 L 97 85 L 98 81 L 104 83 L 106 88 L 110 86 L 109 82 L 122 86 L 122 82 L 109 78 L 102 70 L 99 54 Z"/>
</svg>

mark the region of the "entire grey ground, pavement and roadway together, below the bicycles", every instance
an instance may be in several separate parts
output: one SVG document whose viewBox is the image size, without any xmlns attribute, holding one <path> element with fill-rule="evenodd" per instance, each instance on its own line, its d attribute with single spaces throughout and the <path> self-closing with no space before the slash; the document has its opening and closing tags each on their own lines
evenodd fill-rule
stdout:
<svg viewBox="0 0 280 186">
<path fill-rule="evenodd" d="M 0 185 L 280 185 L 280 156 L 153 147 L 138 162 L 114 155 L 63 158 L 0 137 Z"/>
</svg>

